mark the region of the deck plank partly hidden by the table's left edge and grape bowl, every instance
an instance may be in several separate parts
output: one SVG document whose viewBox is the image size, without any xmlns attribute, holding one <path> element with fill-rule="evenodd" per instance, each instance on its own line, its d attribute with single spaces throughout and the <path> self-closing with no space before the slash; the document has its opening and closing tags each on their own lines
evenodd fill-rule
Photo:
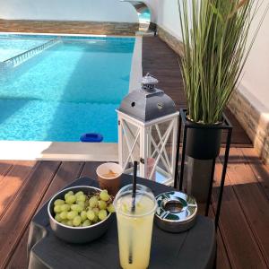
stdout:
<svg viewBox="0 0 269 269">
<path fill-rule="evenodd" d="M 74 179 L 78 178 L 81 174 L 84 163 L 82 161 L 65 161 L 56 172 L 46 194 L 43 196 L 39 204 L 39 208 L 45 204 L 48 199 L 55 195 L 57 191 L 70 184 Z M 39 208 L 37 210 L 39 210 Z M 15 248 L 12 259 L 10 260 L 7 268 L 27 268 L 27 240 L 29 228 L 24 232 L 22 239 L 18 246 Z"/>
</svg>

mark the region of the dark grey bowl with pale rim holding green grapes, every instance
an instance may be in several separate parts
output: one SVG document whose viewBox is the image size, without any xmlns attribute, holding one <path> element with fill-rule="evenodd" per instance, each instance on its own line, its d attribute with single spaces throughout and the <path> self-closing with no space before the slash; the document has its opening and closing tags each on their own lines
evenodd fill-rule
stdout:
<svg viewBox="0 0 269 269">
<path fill-rule="evenodd" d="M 107 219 L 104 221 L 100 221 L 89 227 L 70 227 L 55 220 L 55 213 L 53 212 L 54 201 L 56 199 L 65 200 L 65 194 L 69 191 L 74 191 L 74 193 L 82 191 L 84 194 L 91 194 L 96 191 L 99 192 L 100 188 L 87 186 L 68 187 L 54 195 L 48 203 L 48 216 L 51 229 L 59 239 L 63 239 L 69 243 L 81 244 L 100 238 L 108 230 L 112 220 L 111 213 L 108 214 Z"/>
</svg>

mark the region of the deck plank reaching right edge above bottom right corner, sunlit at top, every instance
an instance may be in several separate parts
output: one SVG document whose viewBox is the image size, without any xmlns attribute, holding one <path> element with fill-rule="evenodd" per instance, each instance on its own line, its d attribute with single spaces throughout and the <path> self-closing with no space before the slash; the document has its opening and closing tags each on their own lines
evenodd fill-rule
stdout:
<svg viewBox="0 0 269 269">
<path fill-rule="evenodd" d="M 269 267 L 269 201 L 259 187 L 256 175 L 237 148 L 230 149 L 227 180 L 233 187 L 250 229 Z M 235 163 L 234 163 L 235 162 Z M 259 220 L 259 221 L 257 221 Z"/>
</svg>

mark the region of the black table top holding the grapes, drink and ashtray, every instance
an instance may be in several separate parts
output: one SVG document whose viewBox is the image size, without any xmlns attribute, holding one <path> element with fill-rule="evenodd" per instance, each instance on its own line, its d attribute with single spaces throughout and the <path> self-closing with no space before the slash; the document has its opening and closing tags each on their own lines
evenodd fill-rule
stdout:
<svg viewBox="0 0 269 269">
<path fill-rule="evenodd" d="M 131 176 L 122 176 L 122 186 L 131 182 Z M 150 187 L 154 195 L 173 190 L 143 178 L 138 178 L 137 183 Z M 66 187 L 80 185 L 99 187 L 98 182 L 91 178 L 79 178 Z M 48 203 L 44 204 L 30 223 L 30 269 L 120 268 L 115 215 L 112 216 L 111 227 L 100 239 L 82 245 L 67 244 L 57 239 L 50 229 L 47 206 Z M 215 229 L 209 218 L 197 216 L 192 229 L 177 234 L 154 225 L 150 268 L 213 268 L 215 251 Z"/>
</svg>

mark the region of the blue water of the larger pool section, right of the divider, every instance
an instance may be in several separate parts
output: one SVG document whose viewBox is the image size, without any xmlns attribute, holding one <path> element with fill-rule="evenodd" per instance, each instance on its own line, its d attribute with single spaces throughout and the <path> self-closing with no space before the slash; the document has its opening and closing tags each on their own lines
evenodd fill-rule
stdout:
<svg viewBox="0 0 269 269">
<path fill-rule="evenodd" d="M 0 140 L 76 142 L 96 132 L 117 142 L 133 50 L 132 38 L 63 39 L 0 74 Z"/>
</svg>

